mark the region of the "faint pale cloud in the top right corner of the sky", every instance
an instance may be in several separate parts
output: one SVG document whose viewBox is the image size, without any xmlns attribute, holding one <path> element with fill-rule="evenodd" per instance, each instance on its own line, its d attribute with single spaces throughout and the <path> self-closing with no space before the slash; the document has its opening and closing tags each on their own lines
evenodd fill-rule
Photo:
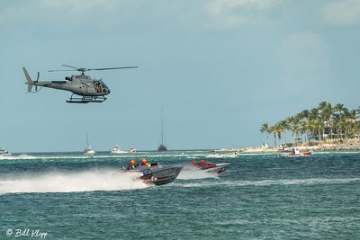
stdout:
<svg viewBox="0 0 360 240">
<path fill-rule="evenodd" d="M 322 9 L 325 22 L 336 26 L 353 26 L 360 23 L 360 1 L 331 2 Z"/>
</svg>

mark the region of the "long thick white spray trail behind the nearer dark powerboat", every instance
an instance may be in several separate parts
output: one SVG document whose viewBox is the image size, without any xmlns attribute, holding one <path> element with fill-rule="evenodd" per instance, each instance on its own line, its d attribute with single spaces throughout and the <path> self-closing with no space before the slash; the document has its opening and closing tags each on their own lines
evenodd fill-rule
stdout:
<svg viewBox="0 0 360 240">
<path fill-rule="evenodd" d="M 138 173 L 123 173 L 119 170 L 3 175 L 0 177 L 0 194 L 18 192 L 121 191 L 148 187 L 138 177 Z"/>
</svg>

